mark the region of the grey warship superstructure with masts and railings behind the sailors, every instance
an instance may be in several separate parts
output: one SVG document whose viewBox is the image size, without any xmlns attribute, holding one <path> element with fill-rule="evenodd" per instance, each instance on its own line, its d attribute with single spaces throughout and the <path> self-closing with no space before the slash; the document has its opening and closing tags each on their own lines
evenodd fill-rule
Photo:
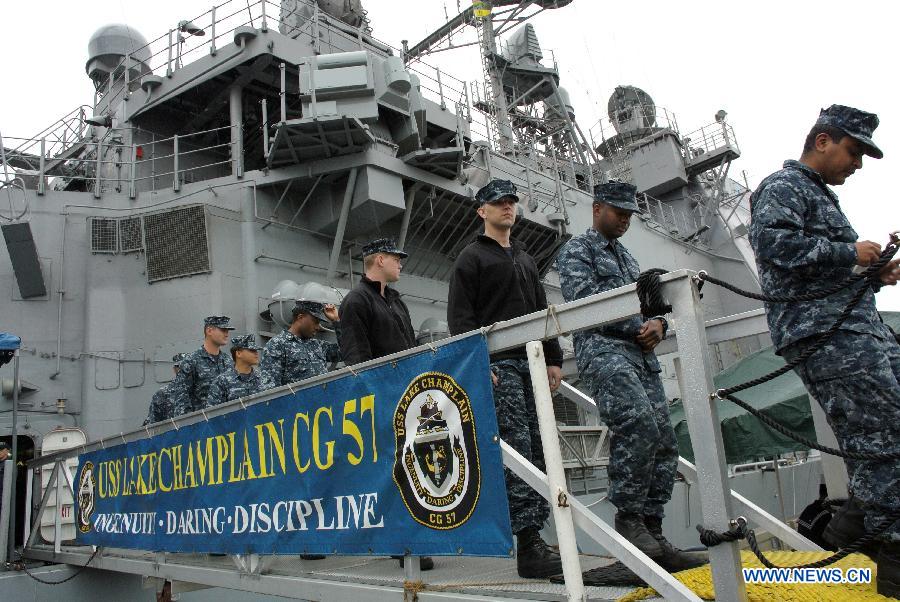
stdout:
<svg viewBox="0 0 900 602">
<path fill-rule="evenodd" d="M 474 192 L 491 178 L 520 191 L 513 235 L 551 303 L 562 301 L 556 253 L 590 227 L 591 191 L 608 179 L 638 187 L 624 242 L 643 268 L 756 287 L 724 112 L 683 131 L 622 85 L 583 128 L 528 22 L 570 1 L 469 7 L 401 48 L 375 37 L 359 0 L 233 0 L 149 42 L 139 24 L 98 29 L 92 103 L 24 138 L 0 116 L 0 331 L 23 339 L 20 450 L 40 455 L 60 429 L 97 441 L 138 428 L 173 354 L 199 345 L 203 316 L 229 315 L 264 342 L 285 326 L 285 302 L 339 303 L 362 273 L 362 244 L 379 236 L 410 254 L 396 288 L 419 341 L 446 336 L 450 271 L 479 231 Z M 429 65 L 461 36 L 477 44 L 480 72 Z M 704 291 L 708 318 L 758 308 Z M 715 343 L 713 363 L 765 339 Z M 678 358 L 663 360 L 679 397 Z M 585 423 L 564 400 L 557 411 Z"/>
</svg>

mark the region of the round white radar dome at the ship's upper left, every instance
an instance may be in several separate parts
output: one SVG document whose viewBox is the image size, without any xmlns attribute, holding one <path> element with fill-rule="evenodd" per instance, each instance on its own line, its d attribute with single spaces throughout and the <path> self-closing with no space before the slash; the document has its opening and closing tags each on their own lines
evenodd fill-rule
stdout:
<svg viewBox="0 0 900 602">
<path fill-rule="evenodd" d="M 122 60 L 129 55 L 131 80 L 138 80 L 150 73 L 147 39 L 128 25 L 104 25 L 88 41 L 88 60 L 84 70 L 94 80 L 94 85 L 100 85 L 108 80 L 110 73 L 121 68 Z"/>
</svg>

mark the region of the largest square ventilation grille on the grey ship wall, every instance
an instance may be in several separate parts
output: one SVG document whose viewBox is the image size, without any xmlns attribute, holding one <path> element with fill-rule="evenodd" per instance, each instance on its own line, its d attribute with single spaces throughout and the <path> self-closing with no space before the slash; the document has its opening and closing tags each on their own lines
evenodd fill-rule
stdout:
<svg viewBox="0 0 900 602">
<path fill-rule="evenodd" d="M 210 271 L 203 205 L 145 215 L 144 233 L 148 282 Z"/>
</svg>

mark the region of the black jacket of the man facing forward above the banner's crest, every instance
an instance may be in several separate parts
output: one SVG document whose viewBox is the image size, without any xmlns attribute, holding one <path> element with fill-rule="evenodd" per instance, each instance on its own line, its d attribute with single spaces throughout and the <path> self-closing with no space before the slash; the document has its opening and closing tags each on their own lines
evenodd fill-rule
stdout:
<svg viewBox="0 0 900 602">
<path fill-rule="evenodd" d="M 500 243 L 481 234 L 456 258 L 447 300 L 450 334 L 468 332 L 547 308 L 547 295 L 534 260 L 518 241 L 512 241 L 512 249 L 510 256 Z M 562 366 L 559 341 L 555 338 L 544 341 L 544 356 L 548 365 Z M 518 347 L 495 353 L 491 359 L 527 357 L 525 347 Z"/>
</svg>

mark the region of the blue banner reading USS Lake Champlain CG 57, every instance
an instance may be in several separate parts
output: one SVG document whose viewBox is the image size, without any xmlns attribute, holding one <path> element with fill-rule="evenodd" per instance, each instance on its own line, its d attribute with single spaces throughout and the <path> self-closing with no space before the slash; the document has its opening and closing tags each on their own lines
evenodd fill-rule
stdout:
<svg viewBox="0 0 900 602">
<path fill-rule="evenodd" d="M 79 456 L 78 542 L 509 556 L 484 337 Z"/>
</svg>

